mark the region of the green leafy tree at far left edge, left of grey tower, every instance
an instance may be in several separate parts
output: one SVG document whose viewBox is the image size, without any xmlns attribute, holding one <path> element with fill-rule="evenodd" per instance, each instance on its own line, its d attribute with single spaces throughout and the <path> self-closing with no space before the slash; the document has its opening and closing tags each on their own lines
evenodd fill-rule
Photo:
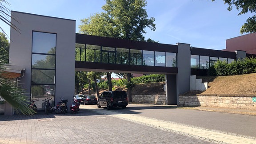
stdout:
<svg viewBox="0 0 256 144">
<path fill-rule="evenodd" d="M 0 32 L 0 54 L 2 56 L 6 56 L 5 63 L 9 62 L 9 41 L 7 40 L 7 37 L 4 35 L 4 33 Z"/>
</svg>

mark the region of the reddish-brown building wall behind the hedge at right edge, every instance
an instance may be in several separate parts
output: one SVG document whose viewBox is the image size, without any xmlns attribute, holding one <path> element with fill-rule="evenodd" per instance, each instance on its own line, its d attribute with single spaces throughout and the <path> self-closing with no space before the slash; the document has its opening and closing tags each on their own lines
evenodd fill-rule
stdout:
<svg viewBox="0 0 256 144">
<path fill-rule="evenodd" d="M 250 33 L 226 40 L 225 51 L 235 52 L 236 50 L 256 54 L 256 33 Z"/>
</svg>

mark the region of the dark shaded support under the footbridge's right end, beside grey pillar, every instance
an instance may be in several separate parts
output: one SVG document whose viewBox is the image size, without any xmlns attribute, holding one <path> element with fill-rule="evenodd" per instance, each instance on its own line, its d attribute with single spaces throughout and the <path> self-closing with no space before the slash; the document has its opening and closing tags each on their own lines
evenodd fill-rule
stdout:
<svg viewBox="0 0 256 144">
<path fill-rule="evenodd" d="M 165 75 L 166 104 L 177 104 L 176 75 Z"/>
</svg>

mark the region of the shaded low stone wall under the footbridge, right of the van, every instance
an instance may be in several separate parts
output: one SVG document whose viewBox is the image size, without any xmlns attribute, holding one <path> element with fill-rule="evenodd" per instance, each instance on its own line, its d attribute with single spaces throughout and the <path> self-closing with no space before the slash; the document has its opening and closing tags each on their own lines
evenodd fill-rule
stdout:
<svg viewBox="0 0 256 144">
<path fill-rule="evenodd" d="M 149 104 L 166 104 L 165 95 L 132 95 L 132 102 Z"/>
</svg>

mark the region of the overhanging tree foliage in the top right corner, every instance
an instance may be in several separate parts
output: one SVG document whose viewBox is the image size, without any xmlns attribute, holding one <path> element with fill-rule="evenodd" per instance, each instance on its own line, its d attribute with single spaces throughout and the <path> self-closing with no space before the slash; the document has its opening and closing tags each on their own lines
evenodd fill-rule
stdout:
<svg viewBox="0 0 256 144">
<path fill-rule="evenodd" d="M 215 1 L 215 0 L 212 0 Z M 241 11 L 238 13 L 239 15 L 245 14 L 249 12 L 256 12 L 256 2 L 255 0 L 224 0 L 224 4 L 228 4 L 228 11 L 231 11 L 233 5 L 236 6 L 236 9 Z M 255 33 L 256 32 L 256 15 L 249 17 L 246 20 L 246 23 L 240 28 L 240 33 Z"/>
</svg>

